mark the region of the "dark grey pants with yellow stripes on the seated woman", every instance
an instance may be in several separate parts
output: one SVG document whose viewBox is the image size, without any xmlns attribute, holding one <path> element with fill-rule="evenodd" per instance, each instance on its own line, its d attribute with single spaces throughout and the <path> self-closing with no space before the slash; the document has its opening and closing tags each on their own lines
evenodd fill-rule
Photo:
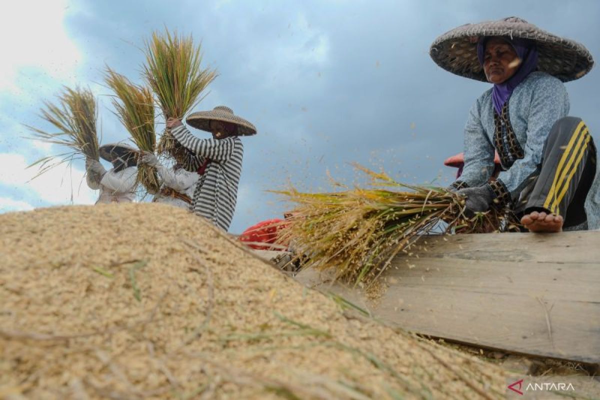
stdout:
<svg viewBox="0 0 600 400">
<path fill-rule="evenodd" d="M 515 212 L 562 215 L 566 230 L 587 229 L 584 203 L 596 175 L 596 148 L 586 124 L 575 117 L 556 121 L 542 157 L 538 171 L 521 191 Z"/>
</svg>

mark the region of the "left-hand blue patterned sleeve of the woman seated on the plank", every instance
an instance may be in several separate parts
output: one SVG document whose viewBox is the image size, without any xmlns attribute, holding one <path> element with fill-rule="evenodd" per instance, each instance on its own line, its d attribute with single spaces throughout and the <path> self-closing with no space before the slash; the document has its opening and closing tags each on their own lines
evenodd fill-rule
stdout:
<svg viewBox="0 0 600 400">
<path fill-rule="evenodd" d="M 485 184 L 494 172 L 494 147 L 481 123 L 480 101 L 471 107 L 464 127 L 464 167 L 460 181 L 467 187 Z"/>
</svg>

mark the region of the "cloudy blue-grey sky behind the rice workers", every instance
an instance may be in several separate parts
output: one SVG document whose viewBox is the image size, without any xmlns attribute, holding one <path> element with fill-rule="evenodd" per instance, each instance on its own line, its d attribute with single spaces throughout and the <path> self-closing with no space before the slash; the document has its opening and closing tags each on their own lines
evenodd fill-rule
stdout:
<svg viewBox="0 0 600 400">
<path fill-rule="evenodd" d="M 326 190 L 328 172 L 351 183 L 352 161 L 407 183 L 449 184 L 454 170 L 443 160 L 462 151 L 467 112 L 489 88 L 431 61 L 431 42 L 455 26 L 520 16 L 600 57 L 594 0 L 22 0 L 3 12 L 0 212 L 94 203 L 83 163 L 29 181 L 28 164 L 62 151 L 22 139 L 22 124 L 49 128 L 36 116 L 41 101 L 61 85 L 88 85 L 98 95 L 103 143 L 126 139 L 101 86 L 104 65 L 141 82 L 139 49 L 167 26 L 201 40 L 204 64 L 220 74 L 197 110 L 227 105 L 259 131 L 243 139 L 234 233 L 281 215 L 286 204 L 266 190 Z M 594 135 L 598 68 L 566 85 L 571 115 Z"/>
</svg>

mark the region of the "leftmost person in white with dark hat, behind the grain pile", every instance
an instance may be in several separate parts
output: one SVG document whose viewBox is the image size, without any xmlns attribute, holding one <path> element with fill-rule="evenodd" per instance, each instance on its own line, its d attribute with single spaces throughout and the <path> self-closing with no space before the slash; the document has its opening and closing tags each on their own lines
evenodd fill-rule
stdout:
<svg viewBox="0 0 600 400">
<path fill-rule="evenodd" d="M 137 152 L 120 143 L 100 146 L 100 157 L 113 164 L 108 171 L 100 161 L 85 160 L 88 187 L 100 189 L 96 204 L 131 203 L 136 198 Z"/>
</svg>

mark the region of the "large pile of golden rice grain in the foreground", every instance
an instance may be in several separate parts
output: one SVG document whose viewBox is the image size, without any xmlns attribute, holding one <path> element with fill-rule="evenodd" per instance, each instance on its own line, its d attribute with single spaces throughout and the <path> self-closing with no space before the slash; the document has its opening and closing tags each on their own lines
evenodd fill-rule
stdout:
<svg viewBox="0 0 600 400">
<path fill-rule="evenodd" d="M 503 398 L 496 366 L 351 317 L 184 210 L 0 215 L 0 399 Z"/>
</svg>

